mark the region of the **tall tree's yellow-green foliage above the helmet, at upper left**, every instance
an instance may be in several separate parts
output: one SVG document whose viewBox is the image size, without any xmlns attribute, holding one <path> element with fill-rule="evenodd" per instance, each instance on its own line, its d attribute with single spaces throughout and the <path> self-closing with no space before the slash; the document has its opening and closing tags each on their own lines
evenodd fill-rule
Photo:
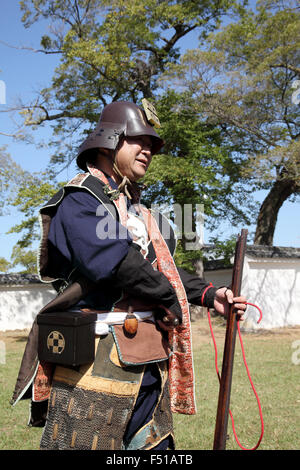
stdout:
<svg viewBox="0 0 300 470">
<path fill-rule="evenodd" d="M 235 1 L 211 0 L 82 0 L 20 2 L 23 24 L 29 28 L 39 20 L 52 26 L 41 38 L 45 53 L 57 53 L 60 63 L 51 85 L 40 91 L 33 106 L 24 106 L 26 125 L 53 124 L 52 163 L 58 168 L 72 155 L 61 154 L 67 144 L 82 141 L 94 126 L 102 106 L 111 100 L 158 93 L 158 78 L 168 63 L 180 57 L 179 42 L 191 31 L 206 37 Z M 60 110 L 57 112 L 57 110 Z"/>
</svg>

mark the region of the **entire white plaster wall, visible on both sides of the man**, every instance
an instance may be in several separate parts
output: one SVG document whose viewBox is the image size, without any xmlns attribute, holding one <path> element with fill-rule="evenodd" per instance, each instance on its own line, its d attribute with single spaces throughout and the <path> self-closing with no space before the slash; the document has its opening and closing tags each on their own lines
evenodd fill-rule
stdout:
<svg viewBox="0 0 300 470">
<path fill-rule="evenodd" d="M 231 269 L 205 271 L 204 277 L 216 287 L 231 284 Z M 245 330 L 300 325 L 300 260 L 245 257 L 241 293 L 263 313 L 248 306 Z M 0 289 L 0 331 L 30 328 L 41 310 L 56 295 L 45 284 L 2 286 Z"/>
</svg>

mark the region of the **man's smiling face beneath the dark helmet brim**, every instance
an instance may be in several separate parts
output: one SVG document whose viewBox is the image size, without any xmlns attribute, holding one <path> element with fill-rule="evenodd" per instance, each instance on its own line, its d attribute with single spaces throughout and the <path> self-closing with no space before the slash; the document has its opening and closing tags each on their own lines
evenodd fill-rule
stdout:
<svg viewBox="0 0 300 470">
<path fill-rule="evenodd" d="M 152 141 L 147 135 L 126 137 L 116 155 L 116 164 L 131 181 L 142 178 L 152 159 Z"/>
</svg>

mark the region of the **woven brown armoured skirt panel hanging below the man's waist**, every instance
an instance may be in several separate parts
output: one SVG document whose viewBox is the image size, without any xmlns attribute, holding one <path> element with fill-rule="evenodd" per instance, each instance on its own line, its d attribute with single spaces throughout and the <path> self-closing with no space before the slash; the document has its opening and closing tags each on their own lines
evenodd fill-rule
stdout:
<svg viewBox="0 0 300 470">
<path fill-rule="evenodd" d="M 121 364 L 111 334 L 96 337 L 95 351 L 92 364 L 56 366 L 40 448 L 148 450 L 173 436 L 167 362 L 157 363 L 161 391 L 152 418 L 124 442 L 145 365 Z"/>
</svg>

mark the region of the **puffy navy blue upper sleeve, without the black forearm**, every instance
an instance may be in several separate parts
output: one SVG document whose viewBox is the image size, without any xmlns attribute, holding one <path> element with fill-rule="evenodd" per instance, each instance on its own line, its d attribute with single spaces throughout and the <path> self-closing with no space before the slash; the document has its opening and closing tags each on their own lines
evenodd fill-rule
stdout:
<svg viewBox="0 0 300 470">
<path fill-rule="evenodd" d="M 99 207 L 99 201 L 88 192 L 69 193 L 48 236 L 64 259 L 93 282 L 109 279 L 132 243 L 127 230 Z"/>
</svg>

